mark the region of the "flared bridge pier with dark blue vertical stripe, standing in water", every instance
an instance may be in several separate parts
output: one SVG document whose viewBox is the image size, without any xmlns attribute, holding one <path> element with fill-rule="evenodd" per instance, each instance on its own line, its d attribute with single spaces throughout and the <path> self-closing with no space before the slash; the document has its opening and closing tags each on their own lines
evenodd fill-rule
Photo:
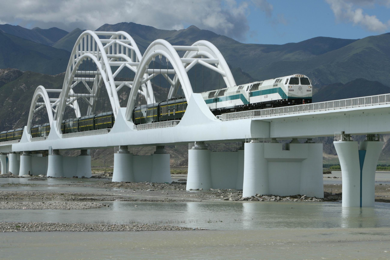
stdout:
<svg viewBox="0 0 390 260">
<path fill-rule="evenodd" d="M 375 170 L 383 142 L 335 141 L 343 183 L 343 207 L 373 207 Z"/>
</svg>

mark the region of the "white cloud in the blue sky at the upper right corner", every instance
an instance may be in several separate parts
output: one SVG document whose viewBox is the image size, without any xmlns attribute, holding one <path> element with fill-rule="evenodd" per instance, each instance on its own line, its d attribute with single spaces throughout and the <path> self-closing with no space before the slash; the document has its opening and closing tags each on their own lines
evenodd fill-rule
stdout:
<svg viewBox="0 0 390 260">
<path fill-rule="evenodd" d="M 371 32 L 383 32 L 390 28 L 390 20 L 382 22 L 376 16 L 367 15 L 361 6 L 373 6 L 375 3 L 390 7 L 390 0 L 326 0 L 338 21 L 351 22 Z M 359 7 L 357 7 L 357 6 Z"/>
</svg>

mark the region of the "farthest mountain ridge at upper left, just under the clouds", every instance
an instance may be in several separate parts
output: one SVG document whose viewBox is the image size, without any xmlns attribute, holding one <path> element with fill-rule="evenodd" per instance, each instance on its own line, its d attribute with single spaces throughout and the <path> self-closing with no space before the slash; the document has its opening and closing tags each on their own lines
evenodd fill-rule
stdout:
<svg viewBox="0 0 390 260">
<path fill-rule="evenodd" d="M 40 29 L 38 27 L 30 30 L 19 25 L 0 24 L 0 32 L 31 40 L 44 45 L 52 45 L 68 32 L 53 27 L 50 29 Z"/>
</svg>

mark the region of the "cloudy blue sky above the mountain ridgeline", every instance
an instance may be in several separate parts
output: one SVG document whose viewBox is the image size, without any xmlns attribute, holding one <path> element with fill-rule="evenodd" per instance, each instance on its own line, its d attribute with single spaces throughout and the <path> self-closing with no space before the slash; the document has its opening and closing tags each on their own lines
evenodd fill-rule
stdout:
<svg viewBox="0 0 390 260">
<path fill-rule="evenodd" d="M 195 25 L 244 43 L 312 37 L 357 39 L 390 32 L 390 0 L 1 0 L 0 24 L 96 30 L 135 22 L 158 29 Z"/>
</svg>

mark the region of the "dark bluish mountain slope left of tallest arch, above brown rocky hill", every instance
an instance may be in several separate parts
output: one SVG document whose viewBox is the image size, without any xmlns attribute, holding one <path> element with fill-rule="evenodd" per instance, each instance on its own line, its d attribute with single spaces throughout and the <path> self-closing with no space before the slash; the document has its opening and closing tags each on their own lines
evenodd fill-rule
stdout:
<svg viewBox="0 0 390 260">
<path fill-rule="evenodd" d="M 0 68 L 45 74 L 66 70 L 70 53 L 0 32 Z"/>
</svg>

